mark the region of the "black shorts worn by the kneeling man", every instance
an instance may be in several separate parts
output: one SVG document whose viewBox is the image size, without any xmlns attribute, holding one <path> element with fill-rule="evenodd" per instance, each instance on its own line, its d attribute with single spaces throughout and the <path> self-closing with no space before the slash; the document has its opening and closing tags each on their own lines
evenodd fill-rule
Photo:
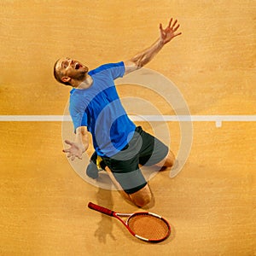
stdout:
<svg viewBox="0 0 256 256">
<path fill-rule="evenodd" d="M 168 151 L 164 143 L 138 126 L 125 148 L 111 158 L 102 159 L 125 192 L 132 194 L 147 184 L 138 165 L 153 166 L 163 160 Z"/>
</svg>

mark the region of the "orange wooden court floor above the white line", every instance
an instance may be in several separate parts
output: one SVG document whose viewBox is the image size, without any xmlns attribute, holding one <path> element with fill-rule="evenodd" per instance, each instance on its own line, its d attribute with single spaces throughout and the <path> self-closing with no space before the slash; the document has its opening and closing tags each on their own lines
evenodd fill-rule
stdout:
<svg viewBox="0 0 256 256">
<path fill-rule="evenodd" d="M 69 88 L 53 78 L 58 58 L 90 68 L 127 60 L 154 42 L 171 15 L 183 35 L 147 67 L 177 84 L 192 114 L 255 113 L 253 1 L 29 0 L 0 7 L 1 114 L 63 113 Z"/>
</svg>

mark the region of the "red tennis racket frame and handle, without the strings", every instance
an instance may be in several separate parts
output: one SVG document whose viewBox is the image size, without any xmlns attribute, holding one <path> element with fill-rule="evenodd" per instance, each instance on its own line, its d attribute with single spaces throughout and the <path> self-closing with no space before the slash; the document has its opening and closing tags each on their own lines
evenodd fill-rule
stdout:
<svg viewBox="0 0 256 256">
<path fill-rule="evenodd" d="M 131 233 L 132 236 L 135 236 L 135 237 L 137 237 L 138 239 L 143 240 L 143 241 L 160 242 L 160 241 L 166 240 L 166 238 L 167 238 L 168 236 L 170 236 L 170 234 L 171 234 L 171 226 L 170 226 L 170 224 L 168 223 L 168 221 L 167 221 L 165 218 L 162 218 L 161 216 L 159 216 L 159 215 L 157 215 L 157 214 L 154 214 L 154 213 L 152 213 L 152 212 L 134 212 L 134 213 L 114 212 L 114 211 L 112 211 L 112 210 L 110 210 L 110 209 L 108 209 L 108 208 L 100 207 L 100 206 L 98 206 L 98 205 L 96 205 L 96 204 L 94 204 L 94 203 L 92 203 L 92 202 L 89 202 L 88 207 L 89 207 L 90 209 L 92 209 L 92 210 L 97 211 L 97 212 L 102 212 L 102 213 L 104 213 L 104 214 L 106 214 L 106 215 L 108 215 L 108 216 L 111 216 L 111 217 L 113 217 L 113 218 L 117 218 L 122 224 L 125 225 L 125 228 L 126 228 L 127 230 L 129 230 L 129 232 Z M 137 215 L 137 214 L 151 215 L 151 216 L 154 216 L 154 217 L 156 217 L 156 218 L 160 218 L 161 220 L 163 220 L 163 221 L 166 223 L 166 226 L 168 227 L 168 232 L 167 232 L 166 236 L 164 236 L 164 237 L 161 238 L 161 239 L 154 240 L 154 239 L 145 238 L 145 237 L 143 237 L 143 236 L 138 236 L 137 234 L 135 234 L 135 233 L 130 229 L 130 227 L 129 227 L 129 225 L 128 225 L 128 222 L 129 222 L 129 218 L 131 218 L 132 216 Z M 124 221 L 122 218 L 120 218 L 119 216 L 120 216 L 120 217 L 128 217 L 128 218 L 127 218 L 127 220 L 126 220 L 126 222 L 125 222 L 125 221 Z"/>
</svg>

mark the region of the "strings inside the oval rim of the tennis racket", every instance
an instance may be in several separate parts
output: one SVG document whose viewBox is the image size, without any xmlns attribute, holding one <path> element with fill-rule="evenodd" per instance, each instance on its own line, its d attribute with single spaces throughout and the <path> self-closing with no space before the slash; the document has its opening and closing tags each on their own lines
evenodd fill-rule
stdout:
<svg viewBox="0 0 256 256">
<path fill-rule="evenodd" d="M 149 214 L 135 214 L 128 220 L 130 229 L 138 236 L 149 240 L 160 240 L 169 235 L 169 226 L 162 218 Z"/>
</svg>

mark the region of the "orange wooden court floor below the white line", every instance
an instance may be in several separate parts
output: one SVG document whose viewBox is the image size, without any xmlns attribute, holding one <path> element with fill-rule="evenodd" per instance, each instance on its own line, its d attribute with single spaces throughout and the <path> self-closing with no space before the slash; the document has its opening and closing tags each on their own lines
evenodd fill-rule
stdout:
<svg viewBox="0 0 256 256">
<path fill-rule="evenodd" d="M 154 255 L 153 248 L 163 255 L 253 255 L 255 139 L 247 136 L 255 134 L 252 123 L 221 129 L 196 123 L 183 171 L 174 179 L 169 171 L 150 179 L 154 203 L 146 210 L 165 216 L 173 228 L 171 239 L 160 245 L 137 241 L 118 222 L 86 207 L 94 201 L 137 211 L 117 191 L 93 186 L 74 172 L 61 153 L 61 123 L 10 127 L 1 124 L 3 255 Z M 169 128 L 177 137 L 172 123 Z M 173 148 L 178 148 L 175 140 Z"/>
</svg>

